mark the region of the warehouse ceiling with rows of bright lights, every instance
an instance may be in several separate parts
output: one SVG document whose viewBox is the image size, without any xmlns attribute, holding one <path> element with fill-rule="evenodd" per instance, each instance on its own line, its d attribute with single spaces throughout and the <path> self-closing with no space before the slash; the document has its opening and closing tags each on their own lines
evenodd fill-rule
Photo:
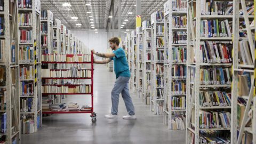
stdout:
<svg viewBox="0 0 256 144">
<path fill-rule="evenodd" d="M 71 6 L 63 6 L 65 3 Z M 163 0 L 141 0 L 142 21 L 150 20 L 150 14 L 155 11 L 163 11 L 164 3 Z M 136 0 L 121 1 L 123 29 L 135 28 L 135 4 Z M 118 8 L 118 0 L 41 0 L 41 9 L 52 11 L 53 17 L 59 19 L 61 24 L 67 26 L 68 29 L 111 29 L 113 26 L 118 29 Z M 109 16 L 113 18 L 109 18 Z M 123 24 L 123 22 L 126 23 Z M 79 26 L 78 23 L 82 25 Z"/>
</svg>

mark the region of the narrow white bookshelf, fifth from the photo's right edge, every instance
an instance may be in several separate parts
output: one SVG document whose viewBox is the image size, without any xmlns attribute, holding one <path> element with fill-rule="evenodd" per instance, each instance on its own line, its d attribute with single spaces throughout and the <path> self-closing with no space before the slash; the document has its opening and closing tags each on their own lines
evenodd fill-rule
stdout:
<svg viewBox="0 0 256 144">
<path fill-rule="evenodd" d="M 142 102 L 150 105 L 151 28 L 150 21 L 142 22 Z"/>
</svg>

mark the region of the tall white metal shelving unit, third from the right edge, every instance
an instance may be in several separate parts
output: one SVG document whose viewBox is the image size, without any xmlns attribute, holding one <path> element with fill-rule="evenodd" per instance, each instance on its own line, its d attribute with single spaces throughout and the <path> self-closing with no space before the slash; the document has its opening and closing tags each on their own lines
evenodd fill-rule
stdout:
<svg viewBox="0 0 256 144">
<path fill-rule="evenodd" d="M 179 19 L 186 21 L 187 17 L 187 9 L 178 9 L 173 3 L 173 1 L 169 0 L 164 5 L 164 15 L 165 15 L 165 53 L 164 54 L 164 81 L 166 82 L 165 87 L 165 97 L 164 97 L 164 110 L 168 113 L 164 113 L 164 124 L 169 126 L 169 129 L 173 129 L 172 125 L 175 123 L 175 118 L 182 115 L 185 117 L 186 108 L 177 108 L 178 106 L 174 106 L 175 99 L 181 99 L 185 97 L 186 102 L 186 90 L 174 90 L 173 87 L 179 85 L 180 82 L 185 82 L 186 84 L 186 55 L 181 58 L 182 53 L 185 53 L 187 49 L 187 41 L 183 41 L 182 43 L 174 42 L 174 33 L 182 32 L 187 33 L 187 26 L 178 22 Z M 176 19 L 176 20 L 175 20 Z M 170 22 L 170 23 L 169 23 Z M 177 23 L 175 23 L 177 22 Z M 186 22 L 185 22 L 186 23 Z M 176 25 L 177 24 L 177 25 Z M 180 26 L 178 26 L 180 24 Z M 181 54 L 180 54 L 181 53 Z M 177 55 L 179 55 L 178 58 Z M 176 57 L 175 57 L 176 56 Z M 175 58 L 174 58 L 175 57 Z M 177 69 L 175 69 L 175 67 Z M 182 73 L 183 72 L 183 76 Z M 174 75 L 174 74 L 177 75 Z M 167 78 L 166 78 L 167 77 Z M 182 103 L 183 106 L 186 103 Z M 174 122 L 173 122 L 174 121 Z M 179 129 L 181 130 L 181 129 Z"/>
</svg>

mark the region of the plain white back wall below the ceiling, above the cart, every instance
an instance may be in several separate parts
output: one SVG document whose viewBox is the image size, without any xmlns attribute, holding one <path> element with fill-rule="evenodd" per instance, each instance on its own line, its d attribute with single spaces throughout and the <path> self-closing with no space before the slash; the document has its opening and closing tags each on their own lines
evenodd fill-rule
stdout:
<svg viewBox="0 0 256 144">
<path fill-rule="evenodd" d="M 89 49 L 94 49 L 96 52 L 107 52 L 109 48 L 108 37 L 118 36 L 118 31 L 98 30 L 95 33 L 92 30 L 81 30 L 81 29 L 71 29 L 71 34 L 75 35 L 80 41 L 82 41 Z M 109 36 L 108 36 L 109 35 Z M 126 34 L 121 33 L 121 39 L 125 39 Z"/>
</svg>

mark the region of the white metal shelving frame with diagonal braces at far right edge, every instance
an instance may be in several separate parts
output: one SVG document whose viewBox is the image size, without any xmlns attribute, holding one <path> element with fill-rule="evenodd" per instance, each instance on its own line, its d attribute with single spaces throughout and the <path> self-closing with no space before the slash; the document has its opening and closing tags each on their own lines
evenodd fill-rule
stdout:
<svg viewBox="0 0 256 144">
<path fill-rule="evenodd" d="M 233 3 L 233 85 L 232 85 L 232 113 L 231 113 L 231 143 L 241 143 L 242 137 L 244 137 L 245 133 L 252 134 L 252 143 L 256 143 L 256 120 L 255 120 L 255 73 L 256 69 L 255 67 L 252 67 L 251 65 L 248 65 L 247 63 L 242 63 L 241 58 L 241 49 L 242 47 L 239 46 L 240 43 L 246 42 L 249 44 L 249 51 L 252 57 L 252 61 L 254 62 L 255 66 L 255 24 L 254 26 L 251 25 L 251 21 L 255 20 L 253 19 L 253 15 L 247 14 L 247 8 L 246 3 L 249 1 L 245 0 L 237 0 Z M 252 3 L 252 2 L 249 2 Z M 240 15 L 239 9 L 242 9 L 243 15 Z M 243 17 L 243 19 L 241 19 Z M 254 17 L 255 17 L 255 1 L 254 1 Z M 241 22 L 245 23 L 245 28 L 241 29 Z M 254 21 L 255 22 L 255 21 Z M 239 32 L 243 31 L 247 34 L 247 37 L 239 37 Z M 239 54 L 238 54 L 239 53 Z M 238 56 L 239 55 L 239 56 Z M 238 116 L 238 98 L 241 98 L 241 95 L 239 95 L 239 77 L 246 75 L 245 73 L 251 75 L 251 87 L 249 87 L 249 95 L 243 95 L 242 98 L 247 100 L 244 115 L 240 115 L 242 117 L 242 122 L 239 122 L 237 116 Z M 241 83 L 240 83 L 241 85 Z M 241 106 L 239 106 L 241 107 Z M 251 116 L 249 117 L 251 112 Z M 252 122 L 251 126 L 246 127 L 246 123 L 249 121 Z M 241 121 L 241 119 L 240 119 Z M 237 123 L 241 125 L 237 125 Z M 239 135 L 237 133 L 239 132 Z M 238 136 L 238 137 L 237 137 Z"/>
</svg>

